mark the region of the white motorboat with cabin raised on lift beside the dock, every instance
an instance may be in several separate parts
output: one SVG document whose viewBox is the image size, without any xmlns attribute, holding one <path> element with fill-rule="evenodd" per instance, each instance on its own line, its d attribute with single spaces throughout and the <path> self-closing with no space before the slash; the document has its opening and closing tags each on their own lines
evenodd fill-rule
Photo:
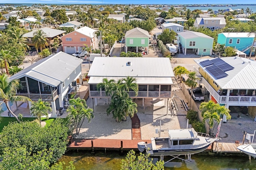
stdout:
<svg viewBox="0 0 256 170">
<path fill-rule="evenodd" d="M 138 143 L 140 152 L 146 150 L 151 156 L 196 154 L 206 150 L 220 138 L 197 133 L 194 128 L 168 130 L 169 137 L 151 138 L 151 143 Z"/>
</svg>

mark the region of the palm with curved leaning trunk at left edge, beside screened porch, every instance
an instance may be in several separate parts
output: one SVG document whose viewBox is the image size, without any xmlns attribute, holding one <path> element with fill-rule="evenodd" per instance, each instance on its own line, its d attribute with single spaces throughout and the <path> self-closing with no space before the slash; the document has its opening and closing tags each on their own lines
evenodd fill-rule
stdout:
<svg viewBox="0 0 256 170">
<path fill-rule="evenodd" d="M 3 101 L 0 105 L 5 104 L 8 111 L 10 111 L 10 113 L 17 119 L 17 121 L 20 122 L 20 119 L 18 119 L 18 117 L 12 112 L 8 102 L 9 101 L 32 102 L 32 100 L 25 96 L 15 96 L 16 89 L 19 88 L 20 86 L 19 80 L 10 81 L 8 77 L 9 76 L 7 74 L 0 75 L 0 99 L 2 99 Z"/>
</svg>

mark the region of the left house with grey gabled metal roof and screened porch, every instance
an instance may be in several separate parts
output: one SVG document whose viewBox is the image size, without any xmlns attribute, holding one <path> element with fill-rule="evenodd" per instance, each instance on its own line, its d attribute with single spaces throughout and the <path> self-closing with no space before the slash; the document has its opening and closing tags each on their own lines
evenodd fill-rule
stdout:
<svg viewBox="0 0 256 170">
<path fill-rule="evenodd" d="M 76 96 L 76 80 L 82 82 L 82 62 L 59 52 L 28 66 L 11 76 L 10 80 L 20 80 L 22 86 L 17 89 L 17 96 L 50 102 L 52 113 L 49 117 L 56 117 L 56 110 L 64 108 L 70 96 Z M 31 102 L 28 105 L 30 107 Z"/>
</svg>

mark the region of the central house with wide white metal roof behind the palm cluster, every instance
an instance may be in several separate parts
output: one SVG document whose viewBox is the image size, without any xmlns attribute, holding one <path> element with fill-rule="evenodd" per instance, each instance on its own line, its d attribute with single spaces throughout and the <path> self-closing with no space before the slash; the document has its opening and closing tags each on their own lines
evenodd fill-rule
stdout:
<svg viewBox="0 0 256 170">
<path fill-rule="evenodd" d="M 104 90 L 98 91 L 96 86 L 104 78 L 119 80 L 127 76 L 136 78 L 138 96 L 129 92 L 130 98 L 171 98 L 172 77 L 174 73 L 170 59 L 147 57 L 95 57 L 90 71 L 88 84 L 90 98 L 110 98 Z"/>
</svg>

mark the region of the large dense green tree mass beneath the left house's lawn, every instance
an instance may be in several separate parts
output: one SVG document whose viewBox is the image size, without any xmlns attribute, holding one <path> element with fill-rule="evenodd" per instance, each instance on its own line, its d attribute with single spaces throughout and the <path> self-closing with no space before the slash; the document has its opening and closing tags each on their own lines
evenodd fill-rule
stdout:
<svg viewBox="0 0 256 170">
<path fill-rule="evenodd" d="M 10 122 L 2 130 L 0 152 L 6 148 L 26 148 L 30 155 L 40 151 L 52 152 L 46 161 L 56 162 L 66 151 L 68 126 L 63 119 L 56 119 L 41 127 L 36 121 Z"/>
</svg>

